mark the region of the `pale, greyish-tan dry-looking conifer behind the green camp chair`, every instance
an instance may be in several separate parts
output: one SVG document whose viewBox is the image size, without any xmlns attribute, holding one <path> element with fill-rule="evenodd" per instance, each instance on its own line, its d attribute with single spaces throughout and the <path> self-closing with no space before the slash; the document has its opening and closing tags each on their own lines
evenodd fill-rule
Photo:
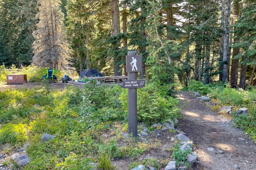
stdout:
<svg viewBox="0 0 256 170">
<path fill-rule="evenodd" d="M 39 67 L 70 69 L 71 49 L 59 0 L 40 0 L 37 30 L 33 32 L 33 64 Z"/>
</svg>

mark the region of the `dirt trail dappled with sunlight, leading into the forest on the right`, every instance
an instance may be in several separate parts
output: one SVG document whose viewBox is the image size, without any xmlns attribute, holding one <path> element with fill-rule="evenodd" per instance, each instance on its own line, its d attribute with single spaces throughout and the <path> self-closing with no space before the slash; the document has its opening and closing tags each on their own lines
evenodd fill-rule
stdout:
<svg viewBox="0 0 256 170">
<path fill-rule="evenodd" d="M 179 92 L 178 99 L 184 116 L 179 122 L 180 129 L 194 141 L 193 149 L 199 159 L 195 169 L 256 170 L 256 144 L 240 129 L 233 128 L 231 120 L 218 116 L 186 92 Z M 238 140 L 239 137 L 246 141 Z M 208 151 L 209 147 L 214 151 Z"/>
</svg>

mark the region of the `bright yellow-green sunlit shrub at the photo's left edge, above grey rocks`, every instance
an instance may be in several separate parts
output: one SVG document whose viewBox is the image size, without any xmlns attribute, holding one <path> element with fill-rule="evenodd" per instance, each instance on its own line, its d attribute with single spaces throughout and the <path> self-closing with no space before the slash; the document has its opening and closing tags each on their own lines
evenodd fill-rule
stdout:
<svg viewBox="0 0 256 170">
<path fill-rule="evenodd" d="M 28 139 L 26 124 L 5 124 L 0 129 L 0 143 L 15 145 Z"/>
</svg>

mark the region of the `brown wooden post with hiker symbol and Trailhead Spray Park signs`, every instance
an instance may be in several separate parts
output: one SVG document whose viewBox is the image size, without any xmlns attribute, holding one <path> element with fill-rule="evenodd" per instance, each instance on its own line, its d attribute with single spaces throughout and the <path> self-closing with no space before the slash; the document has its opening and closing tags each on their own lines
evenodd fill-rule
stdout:
<svg viewBox="0 0 256 170">
<path fill-rule="evenodd" d="M 141 56 L 136 51 L 129 51 L 126 56 L 128 80 L 123 81 L 123 88 L 128 88 L 128 133 L 137 137 L 137 88 L 145 87 L 145 80 L 137 80 L 137 72 L 142 71 Z"/>
</svg>

